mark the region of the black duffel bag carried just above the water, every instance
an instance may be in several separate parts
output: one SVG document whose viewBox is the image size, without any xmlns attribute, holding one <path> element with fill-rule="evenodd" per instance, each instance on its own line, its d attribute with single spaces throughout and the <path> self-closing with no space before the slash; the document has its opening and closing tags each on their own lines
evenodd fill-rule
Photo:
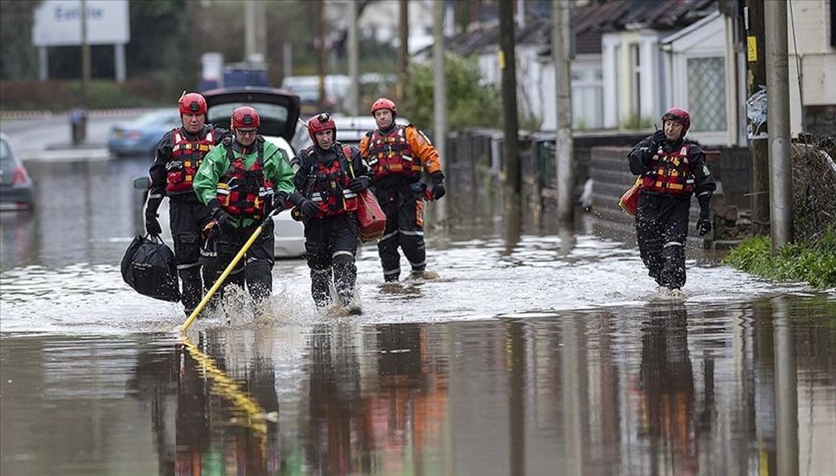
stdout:
<svg viewBox="0 0 836 476">
<path fill-rule="evenodd" d="M 136 235 L 122 257 L 122 279 L 154 299 L 180 300 L 174 252 L 159 236 Z"/>
</svg>

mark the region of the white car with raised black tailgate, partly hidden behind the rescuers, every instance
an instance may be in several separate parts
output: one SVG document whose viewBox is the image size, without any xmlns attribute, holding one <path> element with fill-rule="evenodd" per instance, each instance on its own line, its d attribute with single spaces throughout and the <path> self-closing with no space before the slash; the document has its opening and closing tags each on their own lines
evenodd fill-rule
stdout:
<svg viewBox="0 0 836 476">
<path fill-rule="evenodd" d="M 299 118 L 299 98 L 288 94 L 287 91 L 274 88 L 244 86 L 238 88 L 222 88 L 202 93 L 206 98 L 206 122 L 229 127 L 232 111 L 240 105 L 249 105 L 258 111 L 261 125 L 258 133 L 265 140 L 273 142 L 287 154 L 288 159 L 296 155 L 290 146 L 290 140 L 296 131 Z M 147 177 L 134 180 L 134 187 L 148 190 Z M 171 242 L 169 229 L 168 200 L 164 200 L 160 209 L 160 225 L 163 228 L 162 237 L 166 243 Z M 290 211 L 278 213 L 273 217 L 275 227 L 273 235 L 276 239 L 274 254 L 276 258 L 298 258 L 304 254 L 304 228 L 301 222 L 290 217 Z"/>
</svg>

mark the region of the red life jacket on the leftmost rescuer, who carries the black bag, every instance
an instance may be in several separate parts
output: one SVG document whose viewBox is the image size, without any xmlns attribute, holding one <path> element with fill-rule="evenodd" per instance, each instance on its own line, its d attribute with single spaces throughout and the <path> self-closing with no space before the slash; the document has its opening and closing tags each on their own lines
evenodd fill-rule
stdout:
<svg viewBox="0 0 836 476">
<path fill-rule="evenodd" d="M 191 183 L 201 161 L 215 146 L 215 133 L 210 128 L 206 136 L 190 141 L 180 128 L 171 131 L 171 159 L 166 164 L 166 193 L 191 192 Z"/>
</svg>

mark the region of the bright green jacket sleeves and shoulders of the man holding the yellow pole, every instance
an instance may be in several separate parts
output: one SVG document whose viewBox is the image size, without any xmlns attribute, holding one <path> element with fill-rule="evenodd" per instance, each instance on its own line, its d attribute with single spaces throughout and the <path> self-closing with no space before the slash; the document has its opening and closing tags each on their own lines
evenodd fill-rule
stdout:
<svg viewBox="0 0 836 476">
<path fill-rule="evenodd" d="M 212 198 L 217 198 L 217 184 L 221 182 L 223 177 L 226 177 L 230 167 L 227 147 L 232 147 L 236 158 L 243 157 L 244 166 L 248 169 L 258 158 L 255 145 L 256 142 L 253 142 L 252 146 L 248 147 L 247 154 L 244 154 L 242 153 L 242 146 L 237 141 L 233 141 L 231 146 L 218 145 L 206 154 L 200 168 L 197 169 L 192 184 L 197 198 L 204 204 Z M 288 195 L 293 192 L 294 174 L 288 156 L 273 142 L 264 141 L 263 167 L 264 177 L 273 182 L 273 192 L 285 192 Z M 255 220 L 252 218 L 242 218 L 241 223 L 236 224 L 241 227 L 248 227 L 253 223 L 255 223 Z"/>
</svg>

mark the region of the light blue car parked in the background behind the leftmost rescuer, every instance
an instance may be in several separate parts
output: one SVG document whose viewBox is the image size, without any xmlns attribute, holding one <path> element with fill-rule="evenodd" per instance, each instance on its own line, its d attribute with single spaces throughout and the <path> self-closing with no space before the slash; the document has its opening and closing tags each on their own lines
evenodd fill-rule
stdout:
<svg viewBox="0 0 836 476">
<path fill-rule="evenodd" d="M 107 149 L 117 157 L 153 157 L 162 135 L 180 125 L 179 110 L 154 110 L 130 122 L 113 125 L 107 136 Z"/>
</svg>

